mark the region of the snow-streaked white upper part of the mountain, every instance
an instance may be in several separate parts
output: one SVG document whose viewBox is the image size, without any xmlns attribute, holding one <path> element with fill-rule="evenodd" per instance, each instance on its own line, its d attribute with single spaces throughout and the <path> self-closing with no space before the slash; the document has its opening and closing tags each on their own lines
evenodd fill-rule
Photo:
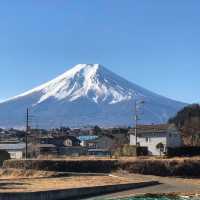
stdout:
<svg viewBox="0 0 200 200">
<path fill-rule="evenodd" d="M 40 92 L 41 96 L 33 104 L 34 106 L 50 97 L 68 101 L 75 101 L 82 97 L 95 103 L 109 104 L 131 99 L 134 91 L 127 91 L 123 85 L 113 82 L 114 76 L 116 75 L 100 64 L 78 64 L 52 81 L 15 96 L 11 100 L 36 92 Z"/>
</svg>

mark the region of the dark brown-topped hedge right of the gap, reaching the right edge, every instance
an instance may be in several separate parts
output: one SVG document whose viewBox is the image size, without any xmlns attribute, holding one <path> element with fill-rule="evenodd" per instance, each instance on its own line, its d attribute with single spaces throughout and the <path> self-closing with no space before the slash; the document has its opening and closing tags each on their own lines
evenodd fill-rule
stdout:
<svg viewBox="0 0 200 200">
<path fill-rule="evenodd" d="M 145 175 L 200 177 L 200 159 L 197 158 L 119 161 L 119 168 Z"/>
</svg>

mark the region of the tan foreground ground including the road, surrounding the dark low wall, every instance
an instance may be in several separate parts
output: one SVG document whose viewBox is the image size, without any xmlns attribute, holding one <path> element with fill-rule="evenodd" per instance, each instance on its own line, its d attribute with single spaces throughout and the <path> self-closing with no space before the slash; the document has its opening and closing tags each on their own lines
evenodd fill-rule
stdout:
<svg viewBox="0 0 200 200">
<path fill-rule="evenodd" d="M 11 174 L 9 174 L 12 172 Z M 80 175 L 54 177 L 54 172 L 0 170 L 0 193 L 33 192 L 58 189 L 82 188 L 125 183 L 158 181 L 160 184 L 114 194 L 95 197 L 98 199 L 118 199 L 141 194 L 200 194 L 200 178 L 159 177 L 150 175 L 130 174 L 118 171 L 111 175 Z M 36 176 L 38 176 L 36 178 Z M 45 176 L 49 176 L 48 178 Z"/>
</svg>

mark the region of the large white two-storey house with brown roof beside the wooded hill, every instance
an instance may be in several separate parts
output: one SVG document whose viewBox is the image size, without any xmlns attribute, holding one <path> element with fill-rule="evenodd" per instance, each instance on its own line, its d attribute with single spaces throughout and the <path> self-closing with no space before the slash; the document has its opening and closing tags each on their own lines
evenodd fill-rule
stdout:
<svg viewBox="0 0 200 200">
<path fill-rule="evenodd" d="M 136 145 L 134 131 L 130 130 L 131 145 Z M 181 134 L 173 124 L 139 125 L 137 145 L 147 147 L 149 155 L 164 155 L 168 148 L 182 146 Z"/>
</svg>

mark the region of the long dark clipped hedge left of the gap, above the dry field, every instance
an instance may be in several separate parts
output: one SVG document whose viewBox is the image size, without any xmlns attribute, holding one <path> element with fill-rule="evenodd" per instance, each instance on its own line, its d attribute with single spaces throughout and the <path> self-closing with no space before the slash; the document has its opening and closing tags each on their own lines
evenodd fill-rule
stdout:
<svg viewBox="0 0 200 200">
<path fill-rule="evenodd" d="M 79 173 L 110 173 L 117 166 L 117 160 L 7 160 L 3 165 L 4 168 Z"/>
</svg>

